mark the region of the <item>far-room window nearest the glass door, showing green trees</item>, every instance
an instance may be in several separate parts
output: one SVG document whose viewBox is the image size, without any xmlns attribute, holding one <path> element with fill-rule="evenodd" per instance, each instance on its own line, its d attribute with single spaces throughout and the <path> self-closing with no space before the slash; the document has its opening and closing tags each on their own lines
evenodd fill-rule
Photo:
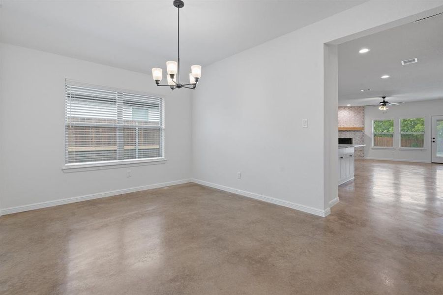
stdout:
<svg viewBox="0 0 443 295">
<path fill-rule="evenodd" d="M 424 118 L 399 119 L 400 148 L 424 148 Z"/>
</svg>

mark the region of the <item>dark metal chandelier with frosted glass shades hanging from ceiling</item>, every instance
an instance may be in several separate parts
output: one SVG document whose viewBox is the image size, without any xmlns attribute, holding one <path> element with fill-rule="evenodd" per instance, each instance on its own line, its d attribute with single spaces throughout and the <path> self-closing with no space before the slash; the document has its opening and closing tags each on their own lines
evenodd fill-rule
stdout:
<svg viewBox="0 0 443 295">
<path fill-rule="evenodd" d="M 166 71 L 168 72 L 166 78 L 168 79 L 168 85 L 160 85 L 160 81 L 163 78 L 163 70 L 161 68 L 152 69 L 152 78 L 154 79 L 155 84 L 157 84 L 157 86 L 167 86 L 170 87 L 172 90 L 176 88 L 195 89 L 197 83 L 199 83 L 200 77 L 202 76 L 202 66 L 198 64 L 194 64 L 193 66 L 191 66 L 191 73 L 189 74 L 189 83 L 188 84 L 180 83 L 180 8 L 184 6 L 184 2 L 182 0 L 174 0 L 174 6 L 178 8 L 177 61 L 174 60 L 166 61 Z"/>
</svg>

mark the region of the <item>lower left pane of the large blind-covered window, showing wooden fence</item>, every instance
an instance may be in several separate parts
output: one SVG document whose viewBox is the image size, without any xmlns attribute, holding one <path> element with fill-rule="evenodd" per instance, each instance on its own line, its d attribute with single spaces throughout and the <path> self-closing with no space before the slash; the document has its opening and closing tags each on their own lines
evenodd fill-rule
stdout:
<svg viewBox="0 0 443 295">
<path fill-rule="evenodd" d="M 117 128 L 66 126 L 67 163 L 117 160 Z"/>
</svg>

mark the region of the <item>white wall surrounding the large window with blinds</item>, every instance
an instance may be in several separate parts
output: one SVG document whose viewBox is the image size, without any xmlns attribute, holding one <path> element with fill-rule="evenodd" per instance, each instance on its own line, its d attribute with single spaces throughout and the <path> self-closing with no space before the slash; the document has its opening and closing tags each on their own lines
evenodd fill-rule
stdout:
<svg viewBox="0 0 443 295">
<path fill-rule="evenodd" d="M 147 74 L 1 43 L 0 60 L 3 210 L 191 177 L 192 90 L 172 92 Z M 167 163 L 63 173 L 65 78 L 164 97 Z"/>
</svg>

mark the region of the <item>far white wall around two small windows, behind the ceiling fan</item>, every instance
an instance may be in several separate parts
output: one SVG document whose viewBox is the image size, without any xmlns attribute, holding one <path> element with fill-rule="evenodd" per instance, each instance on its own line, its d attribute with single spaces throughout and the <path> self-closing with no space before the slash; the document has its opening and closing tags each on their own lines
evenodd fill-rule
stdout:
<svg viewBox="0 0 443 295">
<path fill-rule="evenodd" d="M 443 115 L 443 99 L 422 102 L 410 102 L 391 106 L 386 114 L 378 107 L 365 107 L 364 143 L 365 157 L 380 160 L 403 160 L 413 162 L 431 162 L 431 116 Z M 400 149 L 399 119 L 425 118 L 425 147 L 422 150 Z M 372 121 L 375 119 L 394 119 L 394 148 L 372 148 Z"/>
</svg>

